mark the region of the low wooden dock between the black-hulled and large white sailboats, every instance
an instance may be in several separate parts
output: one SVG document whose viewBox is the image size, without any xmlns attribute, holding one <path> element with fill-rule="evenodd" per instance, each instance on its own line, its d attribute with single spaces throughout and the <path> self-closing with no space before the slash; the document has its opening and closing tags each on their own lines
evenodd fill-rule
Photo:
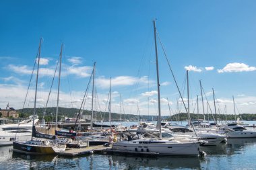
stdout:
<svg viewBox="0 0 256 170">
<path fill-rule="evenodd" d="M 110 147 L 98 145 L 98 146 L 90 146 L 90 147 L 84 147 L 84 148 L 66 148 L 66 151 L 58 152 L 57 155 L 65 156 L 65 157 L 76 157 L 79 155 L 103 153 L 104 151 L 106 151 L 107 148 L 110 148 Z"/>
</svg>

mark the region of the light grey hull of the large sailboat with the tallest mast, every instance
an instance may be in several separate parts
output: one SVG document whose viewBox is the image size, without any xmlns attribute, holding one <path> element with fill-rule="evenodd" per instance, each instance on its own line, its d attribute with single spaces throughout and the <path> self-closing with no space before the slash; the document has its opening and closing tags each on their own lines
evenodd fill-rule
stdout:
<svg viewBox="0 0 256 170">
<path fill-rule="evenodd" d="M 199 155 L 199 143 L 197 142 L 163 142 L 163 141 L 121 141 L 113 144 L 112 151 L 123 153 L 137 153 L 152 155 L 167 155 L 167 156 L 195 156 Z"/>
</svg>

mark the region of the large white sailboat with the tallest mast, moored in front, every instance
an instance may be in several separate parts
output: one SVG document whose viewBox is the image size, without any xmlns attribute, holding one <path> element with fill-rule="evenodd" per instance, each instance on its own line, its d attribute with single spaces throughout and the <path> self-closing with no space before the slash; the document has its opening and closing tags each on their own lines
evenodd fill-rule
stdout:
<svg viewBox="0 0 256 170">
<path fill-rule="evenodd" d="M 160 111 L 160 83 L 158 74 L 158 51 L 156 44 L 156 22 L 154 24 L 154 42 L 156 52 L 156 75 L 158 86 L 158 124 L 159 138 L 140 138 L 130 141 L 113 143 L 109 152 L 133 153 L 138 155 L 167 155 L 167 156 L 198 156 L 199 142 L 180 142 L 176 140 L 162 139 L 161 111 Z"/>
</svg>

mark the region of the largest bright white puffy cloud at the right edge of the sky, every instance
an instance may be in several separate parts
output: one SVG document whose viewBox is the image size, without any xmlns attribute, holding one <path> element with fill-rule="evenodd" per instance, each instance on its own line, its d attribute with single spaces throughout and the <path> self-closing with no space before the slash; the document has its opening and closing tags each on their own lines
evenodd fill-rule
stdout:
<svg viewBox="0 0 256 170">
<path fill-rule="evenodd" d="M 244 63 L 232 62 L 228 63 L 223 69 L 218 69 L 218 73 L 232 73 L 232 72 L 243 72 L 243 71 L 255 71 L 256 67 L 249 67 Z"/>
</svg>

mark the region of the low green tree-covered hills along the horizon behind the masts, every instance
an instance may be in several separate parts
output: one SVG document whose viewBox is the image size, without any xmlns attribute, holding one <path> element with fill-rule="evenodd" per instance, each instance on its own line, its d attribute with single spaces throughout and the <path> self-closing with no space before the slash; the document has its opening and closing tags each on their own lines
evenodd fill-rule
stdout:
<svg viewBox="0 0 256 170">
<path fill-rule="evenodd" d="M 23 113 L 22 110 L 17 110 L 17 112 L 20 114 L 20 118 L 28 118 L 28 116 L 32 115 L 34 112 L 33 108 L 24 108 Z M 39 119 L 42 119 L 42 115 L 44 112 L 44 108 L 37 108 L 36 113 L 39 116 Z M 58 120 L 61 120 L 61 118 L 64 118 L 65 116 L 68 118 L 76 118 L 77 113 L 79 112 L 79 109 L 75 108 L 59 108 L 59 116 Z M 46 114 L 45 114 L 45 120 L 46 122 L 49 121 L 55 121 L 55 114 L 56 114 L 56 108 L 47 108 L 46 109 Z M 91 115 L 90 110 L 84 110 L 83 112 L 84 115 Z M 112 113 L 112 120 L 120 120 L 120 114 L 117 113 Z M 197 120 L 197 119 L 203 119 L 203 114 L 190 114 L 192 120 Z M 236 115 L 236 118 L 240 118 L 241 120 L 256 120 L 256 114 L 239 114 Z M 104 122 L 108 121 L 108 112 L 97 112 L 97 121 L 103 120 Z M 214 116 L 215 118 L 215 116 Z M 213 121 L 214 120 L 212 114 L 209 115 L 209 120 Z M 234 120 L 234 115 L 232 114 L 218 114 L 217 119 L 218 120 Z M 135 114 L 123 114 L 122 115 L 122 120 L 129 120 L 129 121 L 138 121 L 138 120 L 150 120 L 150 121 L 156 121 L 157 116 L 138 116 Z M 173 116 L 162 116 L 162 120 L 168 120 L 168 121 L 186 121 L 188 120 L 188 116 L 186 113 L 180 113 L 180 114 L 174 114 Z M 208 120 L 208 115 L 205 115 L 205 120 Z"/>
</svg>

